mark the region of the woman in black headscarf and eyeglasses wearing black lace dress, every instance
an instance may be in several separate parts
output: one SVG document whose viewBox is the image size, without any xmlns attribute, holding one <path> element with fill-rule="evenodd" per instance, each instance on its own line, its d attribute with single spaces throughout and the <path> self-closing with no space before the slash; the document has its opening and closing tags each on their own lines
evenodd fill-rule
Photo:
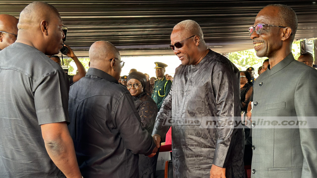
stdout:
<svg viewBox="0 0 317 178">
<path fill-rule="evenodd" d="M 141 126 L 152 134 L 158 107 L 151 96 L 146 94 L 146 76 L 141 72 L 132 72 L 127 77 L 127 88 L 132 95 L 135 108 L 141 118 Z M 158 151 L 159 152 L 159 151 Z M 140 178 L 155 178 L 156 163 L 159 153 L 149 158 L 139 155 Z"/>
</svg>

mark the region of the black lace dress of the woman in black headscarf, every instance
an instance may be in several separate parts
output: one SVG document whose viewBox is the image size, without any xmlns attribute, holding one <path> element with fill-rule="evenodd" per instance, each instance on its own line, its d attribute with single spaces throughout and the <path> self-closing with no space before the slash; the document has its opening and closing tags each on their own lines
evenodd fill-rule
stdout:
<svg viewBox="0 0 317 178">
<path fill-rule="evenodd" d="M 132 98 L 135 108 L 139 112 L 142 127 L 152 134 L 155 119 L 158 113 L 158 107 L 156 103 L 149 95 L 146 94 L 146 92 L 143 92 L 139 96 Z M 149 158 L 145 155 L 139 155 L 140 178 L 155 178 L 158 156 L 158 152 L 152 158 Z"/>
</svg>

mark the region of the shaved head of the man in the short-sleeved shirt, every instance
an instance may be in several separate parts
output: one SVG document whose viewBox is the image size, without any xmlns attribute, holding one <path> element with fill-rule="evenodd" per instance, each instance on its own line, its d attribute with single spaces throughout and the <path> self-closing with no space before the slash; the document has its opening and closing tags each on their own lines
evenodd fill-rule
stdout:
<svg viewBox="0 0 317 178">
<path fill-rule="evenodd" d="M 46 55 L 58 54 L 65 37 L 63 25 L 55 7 L 39 1 L 30 3 L 20 14 L 17 41 Z"/>
</svg>

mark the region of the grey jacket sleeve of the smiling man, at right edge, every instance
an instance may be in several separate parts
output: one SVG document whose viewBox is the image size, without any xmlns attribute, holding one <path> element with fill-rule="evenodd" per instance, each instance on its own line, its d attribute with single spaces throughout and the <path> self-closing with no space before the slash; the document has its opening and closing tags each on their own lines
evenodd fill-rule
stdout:
<svg viewBox="0 0 317 178">
<path fill-rule="evenodd" d="M 305 71 L 296 85 L 294 105 L 303 152 L 302 178 L 317 176 L 317 72 Z"/>
</svg>

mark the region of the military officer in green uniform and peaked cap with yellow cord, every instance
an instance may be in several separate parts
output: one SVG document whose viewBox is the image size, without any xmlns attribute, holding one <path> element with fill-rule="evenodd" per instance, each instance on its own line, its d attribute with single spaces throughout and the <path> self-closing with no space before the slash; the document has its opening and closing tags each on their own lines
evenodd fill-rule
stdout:
<svg viewBox="0 0 317 178">
<path fill-rule="evenodd" d="M 154 88 L 152 92 L 152 99 L 155 101 L 158 106 L 158 110 L 161 108 L 163 104 L 163 100 L 166 98 L 168 93 L 170 92 L 172 82 L 170 79 L 165 77 L 165 67 L 166 64 L 162 62 L 154 62 L 155 63 L 155 73 L 158 79 L 155 80 Z"/>
</svg>

